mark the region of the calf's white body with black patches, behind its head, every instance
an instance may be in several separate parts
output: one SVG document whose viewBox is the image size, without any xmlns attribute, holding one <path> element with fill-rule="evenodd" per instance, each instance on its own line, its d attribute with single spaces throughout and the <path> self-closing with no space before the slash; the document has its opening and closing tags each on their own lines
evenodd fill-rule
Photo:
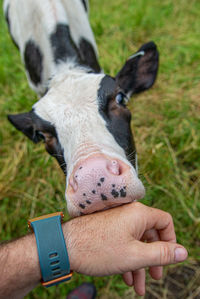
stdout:
<svg viewBox="0 0 200 299">
<path fill-rule="evenodd" d="M 11 35 L 26 66 L 29 84 L 39 95 L 61 69 L 75 66 L 101 71 L 97 47 L 88 21 L 87 1 L 7 1 Z"/>
</svg>

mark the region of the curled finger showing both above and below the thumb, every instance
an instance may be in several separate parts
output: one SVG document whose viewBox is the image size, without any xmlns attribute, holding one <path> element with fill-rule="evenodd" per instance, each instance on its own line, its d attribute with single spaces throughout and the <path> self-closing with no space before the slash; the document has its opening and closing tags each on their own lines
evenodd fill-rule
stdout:
<svg viewBox="0 0 200 299">
<path fill-rule="evenodd" d="M 160 241 L 160 237 L 158 232 L 155 229 L 148 230 L 143 235 L 143 240 L 147 241 L 148 243 Z M 162 278 L 163 275 L 163 267 L 161 266 L 154 266 L 149 268 L 149 274 L 153 279 L 159 280 Z"/>
</svg>

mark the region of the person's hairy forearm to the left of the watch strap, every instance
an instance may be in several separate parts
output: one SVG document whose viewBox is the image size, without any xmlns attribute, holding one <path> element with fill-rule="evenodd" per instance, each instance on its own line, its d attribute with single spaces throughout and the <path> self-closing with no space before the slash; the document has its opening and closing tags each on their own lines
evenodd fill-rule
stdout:
<svg viewBox="0 0 200 299">
<path fill-rule="evenodd" d="M 0 246 L 0 298 L 23 298 L 40 281 L 35 236 L 27 235 Z"/>
</svg>

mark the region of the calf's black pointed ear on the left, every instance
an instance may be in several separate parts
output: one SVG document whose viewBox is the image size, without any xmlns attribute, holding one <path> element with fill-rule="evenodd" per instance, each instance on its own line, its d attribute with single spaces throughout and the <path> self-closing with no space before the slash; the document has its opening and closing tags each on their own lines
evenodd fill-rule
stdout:
<svg viewBox="0 0 200 299">
<path fill-rule="evenodd" d="M 31 117 L 31 112 L 20 113 L 8 115 L 8 120 L 13 124 L 13 126 L 19 131 L 23 132 L 29 139 L 34 143 L 40 141 L 39 136 L 37 135 L 35 124 Z"/>
</svg>

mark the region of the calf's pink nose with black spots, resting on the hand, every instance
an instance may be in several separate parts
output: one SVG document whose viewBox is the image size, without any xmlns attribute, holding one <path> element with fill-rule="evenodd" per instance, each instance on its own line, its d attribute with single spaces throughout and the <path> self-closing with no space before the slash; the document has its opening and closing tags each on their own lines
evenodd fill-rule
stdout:
<svg viewBox="0 0 200 299">
<path fill-rule="evenodd" d="M 77 165 L 69 178 L 66 198 L 71 216 L 89 214 L 144 196 L 144 187 L 128 164 L 92 156 Z"/>
</svg>

